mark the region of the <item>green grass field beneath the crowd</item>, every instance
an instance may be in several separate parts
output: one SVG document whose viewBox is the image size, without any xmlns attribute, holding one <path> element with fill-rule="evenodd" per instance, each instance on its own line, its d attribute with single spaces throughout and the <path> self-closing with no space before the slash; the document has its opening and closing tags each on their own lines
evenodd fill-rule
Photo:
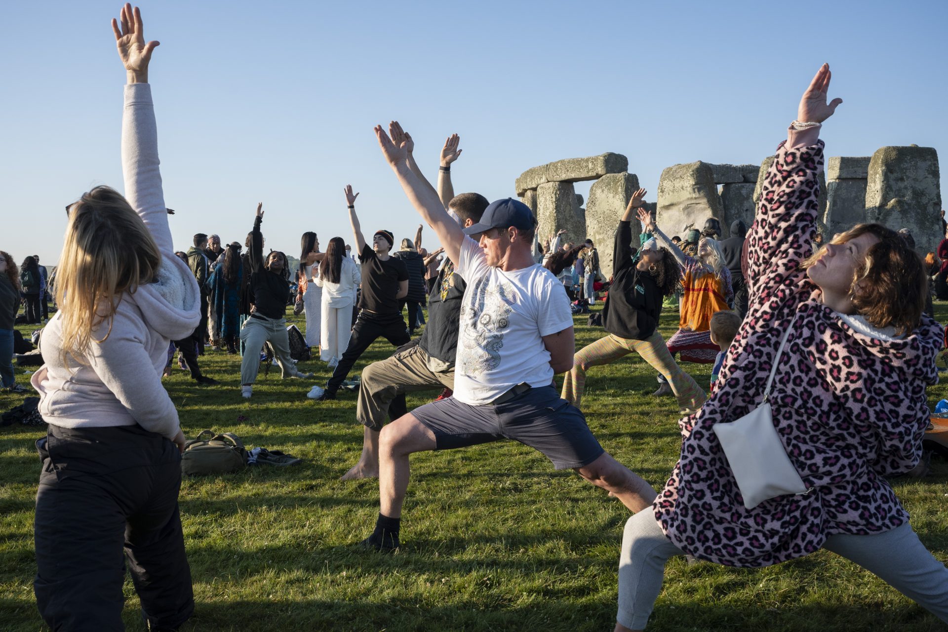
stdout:
<svg viewBox="0 0 948 632">
<path fill-rule="evenodd" d="M 948 321 L 948 304 L 936 316 Z M 303 318 L 288 316 L 301 329 Z M 576 343 L 602 334 L 577 316 Z M 667 338 L 677 315 L 662 319 Z M 32 326 L 20 327 L 28 335 Z M 387 357 L 376 343 L 353 374 Z M 306 399 L 328 377 L 282 381 L 261 374 L 253 398 L 239 391 L 239 357 L 209 351 L 202 369 L 220 380 L 198 387 L 175 363 L 165 380 L 185 434 L 236 432 L 248 446 L 304 459 L 293 468 L 186 479 L 181 515 L 191 562 L 193 618 L 183 630 L 611 630 L 626 508 L 572 471 L 516 442 L 415 455 L 400 551 L 356 543 L 378 511 L 376 480 L 338 480 L 358 459 L 356 398 Z M 685 365 L 702 385 L 710 365 Z M 28 386 L 17 369 L 17 381 Z M 557 380 L 562 384 L 561 378 Z M 593 433 L 616 459 L 656 488 L 678 455 L 676 406 L 650 393 L 650 368 L 631 355 L 593 369 L 583 399 Z M 437 391 L 411 397 L 420 406 Z M 929 389 L 932 406 L 948 387 Z M 22 403 L 0 394 L 0 409 Z M 33 599 L 33 503 L 44 430 L 0 428 L 0 629 L 38 630 Z M 921 540 L 948 561 L 948 465 L 924 480 L 894 483 Z M 142 630 L 137 597 L 125 584 L 125 623 Z M 686 566 L 673 559 L 650 630 L 900 630 L 944 625 L 866 571 L 820 551 L 770 569 Z"/>
</svg>

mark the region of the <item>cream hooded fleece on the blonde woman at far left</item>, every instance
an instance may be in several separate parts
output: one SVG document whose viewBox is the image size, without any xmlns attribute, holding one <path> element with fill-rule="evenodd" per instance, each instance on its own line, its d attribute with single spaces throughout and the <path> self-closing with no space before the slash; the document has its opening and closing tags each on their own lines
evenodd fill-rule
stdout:
<svg viewBox="0 0 948 632">
<path fill-rule="evenodd" d="M 200 294 L 191 270 L 174 256 L 148 83 L 125 86 L 121 131 L 125 199 L 161 251 L 157 279 L 120 296 L 111 333 L 97 343 L 108 332 L 108 323 L 93 332 L 85 364 L 64 365 L 62 320 L 57 313 L 43 330 L 45 364 L 31 383 L 40 393 L 40 413 L 47 424 L 67 428 L 138 424 L 171 439 L 179 428 L 178 416 L 161 385 L 161 373 L 170 342 L 190 335 L 201 319 Z"/>
</svg>

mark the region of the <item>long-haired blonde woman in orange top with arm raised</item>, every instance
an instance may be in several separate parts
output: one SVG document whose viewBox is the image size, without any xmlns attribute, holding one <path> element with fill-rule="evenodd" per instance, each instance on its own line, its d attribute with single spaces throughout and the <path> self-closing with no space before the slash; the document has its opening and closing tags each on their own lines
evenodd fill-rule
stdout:
<svg viewBox="0 0 948 632">
<path fill-rule="evenodd" d="M 639 208 L 638 215 L 642 229 L 671 251 L 682 270 L 681 316 L 678 331 L 668 338 L 668 352 L 672 357 L 681 353 L 681 362 L 714 364 L 720 347 L 711 341 L 711 316 L 720 310 L 731 309 L 729 304 L 734 298 L 731 271 L 724 264 L 720 243 L 711 237 L 702 237 L 696 256 L 691 257 L 668 239 L 647 210 Z M 655 395 L 672 392 L 662 375 L 659 384 Z"/>
</svg>

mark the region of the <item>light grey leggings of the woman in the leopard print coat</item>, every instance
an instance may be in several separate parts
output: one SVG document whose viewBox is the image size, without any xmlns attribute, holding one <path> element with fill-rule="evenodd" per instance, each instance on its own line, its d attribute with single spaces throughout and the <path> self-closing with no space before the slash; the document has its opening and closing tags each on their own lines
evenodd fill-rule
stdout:
<svg viewBox="0 0 948 632">
<path fill-rule="evenodd" d="M 948 622 L 948 569 L 905 524 L 875 535 L 830 535 L 823 548 L 876 574 L 889 586 Z M 665 562 L 684 551 L 662 532 L 651 509 L 626 522 L 619 556 L 619 612 L 630 630 L 645 629 L 662 589 Z"/>
</svg>

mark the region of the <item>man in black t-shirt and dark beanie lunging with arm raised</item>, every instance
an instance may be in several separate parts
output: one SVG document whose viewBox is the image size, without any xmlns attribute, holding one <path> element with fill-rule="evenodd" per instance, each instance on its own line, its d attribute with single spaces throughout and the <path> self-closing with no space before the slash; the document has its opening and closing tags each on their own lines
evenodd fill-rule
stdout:
<svg viewBox="0 0 948 632">
<path fill-rule="evenodd" d="M 395 238 L 388 230 L 375 231 L 372 246 L 365 243 L 356 216 L 358 193 L 354 195 L 351 186 L 347 186 L 345 192 L 349 221 L 356 235 L 358 259 L 362 263 L 362 298 L 359 300 L 358 318 L 352 337 L 349 338 L 349 346 L 339 359 L 336 370 L 333 370 L 333 376 L 321 393 L 319 388 L 310 391 L 309 396 L 319 401 L 336 399 L 336 393 L 349 370 L 376 338 L 385 336 L 395 347 L 409 341 L 405 319 L 398 309 L 398 299 L 405 298 L 409 293 L 409 270 L 405 262 L 389 256 Z"/>
</svg>

